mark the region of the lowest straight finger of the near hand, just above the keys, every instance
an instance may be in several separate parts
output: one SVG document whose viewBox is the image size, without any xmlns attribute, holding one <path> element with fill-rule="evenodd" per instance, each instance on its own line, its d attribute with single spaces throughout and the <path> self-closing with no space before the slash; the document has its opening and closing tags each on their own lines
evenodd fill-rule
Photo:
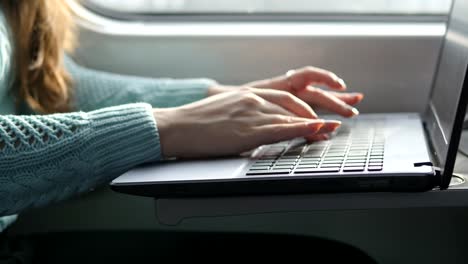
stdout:
<svg viewBox="0 0 468 264">
<path fill-rule="evenodd" d="M 260 144 L 271 144 L 298 137 L 313 135 L 323 126 L 323 120 L 307 122 L 264 125 L 256 128 L 256 136 Z"/>
</svg>

